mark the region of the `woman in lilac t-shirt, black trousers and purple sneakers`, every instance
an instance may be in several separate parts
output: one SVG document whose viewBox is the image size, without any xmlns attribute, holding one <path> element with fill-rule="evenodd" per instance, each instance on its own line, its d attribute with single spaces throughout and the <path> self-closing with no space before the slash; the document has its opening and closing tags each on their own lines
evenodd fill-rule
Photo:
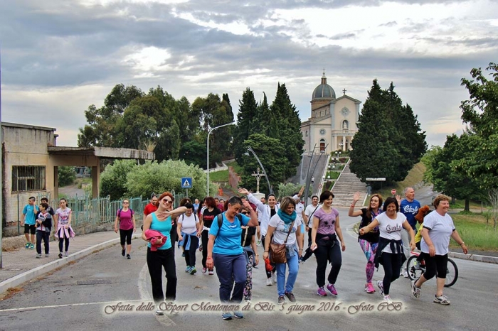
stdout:
<svg viewBox="0 0 498 331">
<path fill-rule="evenodd" d="M 339 271 L 341 270 L 342 256 L 341 250 L 346 250 L 342 230 L 339 224 L 339 211 L 332 208 L 332 200 L 334 193 L 325 190 L 320 195 L 320 203 L 322 208 L 317 210 L 313 216 L 312 226 L 312 244 L 309 247 L 317 256 L 317 294 L 320 296 L 327 295 L 324 290 L 325 273 L 327 271 L 327 263 L 332 264 L 327 285 L 327 290 L 332 295 L 337 295 L 335 283 Z M 339 247 L 339 239 L 341 246 Z"/>
</svg>

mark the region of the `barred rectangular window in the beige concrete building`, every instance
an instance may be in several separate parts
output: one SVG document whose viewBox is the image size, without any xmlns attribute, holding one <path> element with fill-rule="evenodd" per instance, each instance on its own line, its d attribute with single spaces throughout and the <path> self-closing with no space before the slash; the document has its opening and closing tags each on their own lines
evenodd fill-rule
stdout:
<svg viewBox="0 0 498 331">
<path fill-rule="evenodd" d="M 12 192 L 45 189 L 45 167 L 40 165 L 12 166 Z"/>
</svg>

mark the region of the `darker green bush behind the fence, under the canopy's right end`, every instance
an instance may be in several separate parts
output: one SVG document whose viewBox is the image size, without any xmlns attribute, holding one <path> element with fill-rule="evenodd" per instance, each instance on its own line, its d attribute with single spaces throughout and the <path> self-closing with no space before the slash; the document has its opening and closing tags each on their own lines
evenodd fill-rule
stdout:
<svg viewBox="0 0 498 331">
<path fill-rule="evenodd" d="M 112 200 L 125 197 L 127 193 L 127 175 L 138 167 L 134 160 L 117 160 L 112 165 L 107 165 L 100 175 L 100 196 L 110 195 Z M 150 192 L 139 195 L 149 196 Z"/>
</svg>

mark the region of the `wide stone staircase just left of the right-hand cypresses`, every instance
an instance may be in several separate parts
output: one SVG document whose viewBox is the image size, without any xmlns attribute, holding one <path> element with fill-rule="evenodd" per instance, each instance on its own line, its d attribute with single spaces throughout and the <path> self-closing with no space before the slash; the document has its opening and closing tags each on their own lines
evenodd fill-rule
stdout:
<svg viewBox="0 0 498 331">
<path fill-rule="evenodd" d="M 356 207 L 361 207 L 366 197 L 366 184 L 361 183 L 359 178 L 351 173 L 348 162 L 334 183 L 332 192 L 335 196 L 332 207 L 349 207 L 353 202 L 354 192 L 360 192 L 360 200 L 356 203 Z"/>
</svg>

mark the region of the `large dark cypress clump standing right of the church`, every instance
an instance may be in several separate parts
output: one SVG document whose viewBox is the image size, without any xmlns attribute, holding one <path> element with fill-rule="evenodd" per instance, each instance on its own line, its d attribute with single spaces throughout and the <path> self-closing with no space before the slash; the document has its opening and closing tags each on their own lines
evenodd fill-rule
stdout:
<svg viewBox="0 0 498 331">
<path fill-rule="evenodd" d="M 373 80 L 351 146 L 352 172 L 363 181 L 385 177 L 388 182 L 404 180 L 427 149 L 425 132 L 420 132 L 411 107 L 403 106 L 392 82 L 388 89 L 381 89 L 377 80 Z M 378 188 L 381 184 L 371 185 Z"/>
</svg>

